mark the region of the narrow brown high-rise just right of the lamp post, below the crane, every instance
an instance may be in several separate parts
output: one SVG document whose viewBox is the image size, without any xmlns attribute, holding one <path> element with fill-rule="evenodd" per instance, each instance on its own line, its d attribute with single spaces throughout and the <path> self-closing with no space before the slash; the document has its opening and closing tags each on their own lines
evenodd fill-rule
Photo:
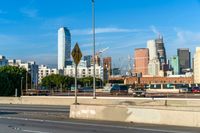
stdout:
<svg viewBox="0 0 200 133">
<path fill-rule="evenodd" d="M 108 80 L 108 78 L 111 75 L 112 71 L 112 58 L 111 57 L 106 57 L 103 58 L 103 79 Z"/>
</svg>

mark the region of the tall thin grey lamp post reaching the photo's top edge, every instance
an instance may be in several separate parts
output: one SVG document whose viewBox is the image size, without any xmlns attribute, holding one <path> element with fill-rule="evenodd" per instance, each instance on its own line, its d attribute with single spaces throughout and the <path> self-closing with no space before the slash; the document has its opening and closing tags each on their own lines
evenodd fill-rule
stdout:
<svg viewBox="0 0 200 133">
<path fill-rule="evenodd" d="M 95 85 L 95 3 L 92 0 L 92 32 L 93 32 L 93 99 L 96 99 L 96 85 Z"/>
</svg>

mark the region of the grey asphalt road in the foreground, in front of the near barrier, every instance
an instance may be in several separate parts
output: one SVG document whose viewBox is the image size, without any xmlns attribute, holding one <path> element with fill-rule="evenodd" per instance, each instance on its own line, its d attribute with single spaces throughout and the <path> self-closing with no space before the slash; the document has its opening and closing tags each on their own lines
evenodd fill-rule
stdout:
<svg viewBox="0 0 200 133">
<path fill-rule="evenodd" d="M 69 119 L 69 106 L 0 105 L 0 133 L 200 133 L 200 128 Z"/>
</svg>

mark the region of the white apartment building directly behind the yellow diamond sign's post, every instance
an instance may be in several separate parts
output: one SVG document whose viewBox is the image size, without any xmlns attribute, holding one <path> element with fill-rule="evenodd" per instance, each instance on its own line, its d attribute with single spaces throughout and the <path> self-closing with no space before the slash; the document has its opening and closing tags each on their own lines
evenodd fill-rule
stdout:
<svg viewBox="0 0 200 133">
<path fill-rule="evenodd" d="M 95 66 L 95 74 L 96 78 L 103 79 L 103 67 L 102 66 Z M 75 65 L 66 66 L 64 69 L 64 75 L 72 76 L 75 77 Z M 93 66 L 87 67 L 87 62 L 81 60 L 78 67 L 77 67 L 77 77 L 82 78 L 82 77 L 89 77 L 93 76 Z"/>
</svg>

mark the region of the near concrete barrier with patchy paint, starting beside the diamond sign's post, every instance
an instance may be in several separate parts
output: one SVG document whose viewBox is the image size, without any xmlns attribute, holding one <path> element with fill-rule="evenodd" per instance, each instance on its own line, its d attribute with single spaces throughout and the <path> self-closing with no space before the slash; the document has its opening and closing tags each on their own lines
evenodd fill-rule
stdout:
<svg viewBox="0 0 200 133">
<path fill-rule="evenodd" d="M 71 105 L 70 118 L 200 127 L 200 112 L 178 108 Z"/>
</svg>

